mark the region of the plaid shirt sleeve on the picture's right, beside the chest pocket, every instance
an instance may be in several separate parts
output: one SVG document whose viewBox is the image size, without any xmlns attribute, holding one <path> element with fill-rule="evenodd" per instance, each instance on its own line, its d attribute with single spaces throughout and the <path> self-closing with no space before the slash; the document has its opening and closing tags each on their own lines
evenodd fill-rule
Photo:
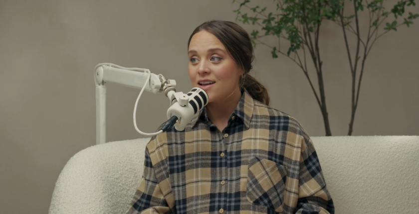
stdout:
<svg viewBox="0 0 419 214">
<path fill-rule="evenodd" d="M 302 135 L 300 177 L 296 214 L 334 214 L 335 208 L 322 168 L 307 134 Z"/>
</svg>

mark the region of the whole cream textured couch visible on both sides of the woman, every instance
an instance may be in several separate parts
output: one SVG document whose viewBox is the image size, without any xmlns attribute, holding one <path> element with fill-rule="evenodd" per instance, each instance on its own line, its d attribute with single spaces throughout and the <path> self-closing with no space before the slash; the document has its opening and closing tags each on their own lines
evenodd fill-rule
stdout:
<svg viewBox="0 0 419 214">
<path fill-rule="evenodd" d="M 140 182 L 150 138 L 95 145 L 74 155 L 49 214 L 121 214 Z M 419 136 L 312 137 L 336 214 L 416 213 Z"/>
</svg>

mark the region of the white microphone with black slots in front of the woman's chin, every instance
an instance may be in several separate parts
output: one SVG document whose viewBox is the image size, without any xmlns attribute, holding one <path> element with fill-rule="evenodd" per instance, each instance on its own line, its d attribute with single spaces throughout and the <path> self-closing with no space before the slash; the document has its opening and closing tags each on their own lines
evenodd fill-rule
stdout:
<svg viewBox="0 0 419 214">
<path fill-rule="evenodd" d="M 176 130 L 183 131 L 194 115 L 207 106 L 208 100 L 208 94 L 201 88 L 193 88 L 179 99 L 173 99 L 172 102 L 178 102 L 167 109 L 169 120 L 163 125 L 162 130 L 166 131 L 172 125 L 175 125 Z"/>
</svg>

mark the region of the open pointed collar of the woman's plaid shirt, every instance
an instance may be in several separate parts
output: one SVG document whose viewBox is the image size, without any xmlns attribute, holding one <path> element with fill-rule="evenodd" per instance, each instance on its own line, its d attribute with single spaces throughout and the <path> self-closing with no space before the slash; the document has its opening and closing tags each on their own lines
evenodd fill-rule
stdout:
<svg viewBox="0 0 419 214">
<path fill-rule="evenodd" d="M 241 99 L 238 102 L 237 107 L 234 109 L 233 114 L 235 114 L 238 118 L 240 118 L 243 121 L 246 128 L 250 127 L 250 121 L 253 115 L 253 107 L 253 98 L 249 95 L 246 89 L 243 89 Z M 205 112 L 205 107 L 202 108 L 201 111 L 192 118 L 192 127 L 195 127 L 200 118 L 204 121 L 208 121 L 207 113 Z"/>
</svg>

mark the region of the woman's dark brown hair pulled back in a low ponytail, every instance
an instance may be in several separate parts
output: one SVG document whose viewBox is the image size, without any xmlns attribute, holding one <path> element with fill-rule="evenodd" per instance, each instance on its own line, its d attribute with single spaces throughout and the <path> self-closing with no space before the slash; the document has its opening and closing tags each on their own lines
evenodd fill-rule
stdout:
<svg viewBox="0 0 419 214">
<path fill-rule="evenodd" d="M 203 30 L 217 37 L 237 65 L 242 68 L 243 75 L 240 78 L 240 89 L 245 88 L 254 100 L 268 106 L 270 101 L 268 91 L 255 78 L 248 75 L 253 68 L 252 62 L 254 59 L 253 46 L 249 34 L 238 24 L 231 21 L 207 21 L 198 26 L 191 34 L 188 41 L 188 48 L 192 37 Z"/>
</svg>

